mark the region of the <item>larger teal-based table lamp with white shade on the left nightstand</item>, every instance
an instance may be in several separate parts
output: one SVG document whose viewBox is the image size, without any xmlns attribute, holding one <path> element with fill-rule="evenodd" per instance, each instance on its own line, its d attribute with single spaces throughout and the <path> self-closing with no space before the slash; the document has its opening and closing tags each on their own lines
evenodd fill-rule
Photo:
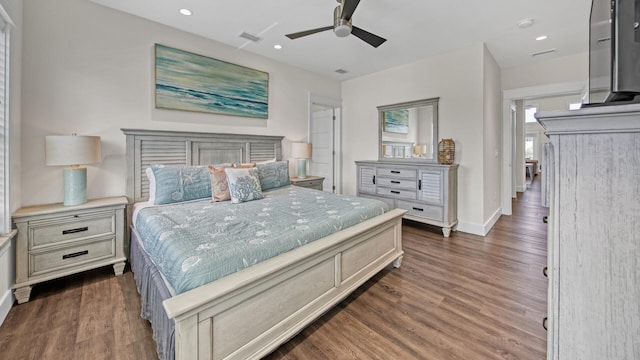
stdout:
<svg viewBox="0 0 640 360">
<path fill-rule="evenodd" d="M 64 168 L 64 205 L 87 202 L 87 168 L 80 165 L 102 160 L 99 136 L 45 136 L 45 155 L 48 166 Z"/>
</svg>

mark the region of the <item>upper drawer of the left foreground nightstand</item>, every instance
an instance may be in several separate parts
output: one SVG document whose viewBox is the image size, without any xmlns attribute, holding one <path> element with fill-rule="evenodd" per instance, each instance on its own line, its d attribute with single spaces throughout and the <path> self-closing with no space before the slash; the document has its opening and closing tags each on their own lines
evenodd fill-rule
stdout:
<svg viewBox="0 0 640 360">
<path fill-rule="evenodd" d="M 115 213 L 100 212 L 29 222 L 29 249 L 115 233 Z"/>
</svg>

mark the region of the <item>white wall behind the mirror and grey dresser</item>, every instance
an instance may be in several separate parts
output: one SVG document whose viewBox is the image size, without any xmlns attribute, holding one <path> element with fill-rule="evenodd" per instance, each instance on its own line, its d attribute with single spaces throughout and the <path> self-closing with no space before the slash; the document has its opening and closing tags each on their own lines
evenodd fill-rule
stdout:
<svg viewBox="0 0 640 360">
<path fill-rule="evenodd" d="M 483 71 L 481 43 L 342 84 L 343 192 L 356 193 L 356 160 L 377 160 L 380 105 L 440 97 L 439 138 L 456 143 L 459 230 L 482 227 Z"/>
</svg>

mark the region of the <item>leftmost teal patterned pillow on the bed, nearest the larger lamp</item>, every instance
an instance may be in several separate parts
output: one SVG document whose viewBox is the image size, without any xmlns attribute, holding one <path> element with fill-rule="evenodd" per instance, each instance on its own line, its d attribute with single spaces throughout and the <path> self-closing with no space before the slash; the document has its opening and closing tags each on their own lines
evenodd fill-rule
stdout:
<svg viewBox="0 0 640 360">
<path fill-rule="evenodd" d="M 211 178 L 206 166 L 151 165 L 149 202 L 154 205 L 211 197 Z M 152 183 L 153 182 L 153 183 Z"/>
</svg>

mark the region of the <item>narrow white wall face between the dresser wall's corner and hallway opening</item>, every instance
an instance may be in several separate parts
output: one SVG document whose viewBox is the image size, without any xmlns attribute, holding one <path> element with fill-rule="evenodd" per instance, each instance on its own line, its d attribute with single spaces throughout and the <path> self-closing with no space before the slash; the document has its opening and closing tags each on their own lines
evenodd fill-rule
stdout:
<svg viewBox="0 0 640 360">
<path fill-rule="evenodd" d="M 484 126 L 483 126 L 483 228 L 474 232 L 485 235 L 502 213 L 500 195 L 502 185 L 502 92 L 500 67 L 484 47 Z"/>
</svg>

